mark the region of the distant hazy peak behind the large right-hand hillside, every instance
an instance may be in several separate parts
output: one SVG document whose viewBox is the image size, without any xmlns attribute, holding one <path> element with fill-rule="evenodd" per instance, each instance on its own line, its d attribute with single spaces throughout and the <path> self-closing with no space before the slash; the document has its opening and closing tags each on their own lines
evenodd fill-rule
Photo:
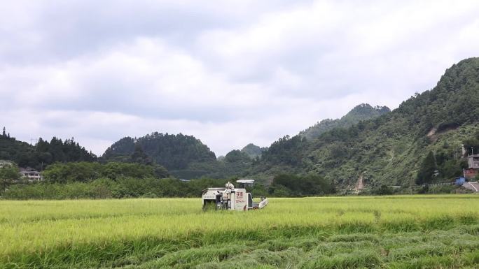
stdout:
<svg viewBox="0 0 479 269">
<path fill-rule="evenodd" d="M 373 107 L 368 103 L 361 103 L 361 105 L 354 107 L 340 119 L 323 119 L 321 122 L 318 122 L 310 128 L 301 131 L 299 135 L 307 138 L 308 140 L 312 140 L 326 131 L 330 131 L 337 127 L 349 127 L 360 122 L 361 120 L 373 119 L 387 112 L 391 112 L 387 106 Z"/>
</svg>

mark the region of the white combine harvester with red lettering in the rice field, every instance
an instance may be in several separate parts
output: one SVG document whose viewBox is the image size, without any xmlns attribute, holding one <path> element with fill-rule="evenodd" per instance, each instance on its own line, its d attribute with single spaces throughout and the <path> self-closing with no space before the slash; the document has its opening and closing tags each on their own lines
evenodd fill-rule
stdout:
<svg viewBox="0 0 479 269">
<path fill-rule="evenodd" d="M 208 188 L 203 190 L 202 202 L 203 210 L 237 210 L 247 211 L 262 209 L 268 205 L 268 199 L 261 197 L 260 203 L 253 203 L 253 196 L 245 189 L 252 186 L 254 180 L 237 180 L 240 188 L 230 182 L 226 183 L 224 188 Z"/>
</svg>

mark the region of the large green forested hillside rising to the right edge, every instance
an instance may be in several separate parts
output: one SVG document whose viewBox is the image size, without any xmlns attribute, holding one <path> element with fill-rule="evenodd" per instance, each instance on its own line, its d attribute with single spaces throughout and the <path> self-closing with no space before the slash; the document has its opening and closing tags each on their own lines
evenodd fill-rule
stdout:
<svg viewBox="0 0 479 269">
<path fill-rule="evenodd" d="M 461 144 L 475 138 L 478 121 L 479 58 L 470 58 L 392 112 L 314 140 L 278 140 L 263 152 L 252 174 L 313 172 L 349 187 L 360 175 L 370 185 L 450 180 L 461 173 Z M 431 156 L 433 163 L 425 168 Z M 432 178 L 432 169 L 439 170 L 438 177 Z"/>
</svg>

